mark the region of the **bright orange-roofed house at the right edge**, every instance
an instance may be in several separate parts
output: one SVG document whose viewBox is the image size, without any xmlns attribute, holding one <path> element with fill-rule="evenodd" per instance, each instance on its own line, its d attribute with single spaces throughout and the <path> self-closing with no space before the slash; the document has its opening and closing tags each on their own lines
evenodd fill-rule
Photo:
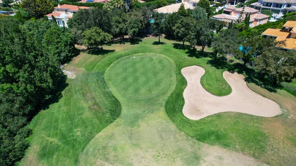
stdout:
<svg viewBox="0 0 296 166">
<path fill-rule="evenodd" d="M 286 50 L 296 50 L 296 21 L 287 21 L 283 29 L 268 28 L 262 33 L 265 37 L 275 37 L 275 41 L 285 41 L 286 45 L 278 47 Z"/>
</svg>

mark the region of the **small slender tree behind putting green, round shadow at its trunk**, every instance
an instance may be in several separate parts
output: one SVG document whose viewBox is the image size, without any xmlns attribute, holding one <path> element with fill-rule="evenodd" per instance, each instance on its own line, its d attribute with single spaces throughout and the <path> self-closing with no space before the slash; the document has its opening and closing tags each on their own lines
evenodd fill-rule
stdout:
<svg viewBox="0 0 296 166">
<path fill-rule="evenodd" d="M 152 23 L 153 36 L 158 36 L 158 42 L 160 42 L 160 35 L 163 32 L 164 14 L 155 12 L 152 16 L 154 22 Z"/>
</svg>

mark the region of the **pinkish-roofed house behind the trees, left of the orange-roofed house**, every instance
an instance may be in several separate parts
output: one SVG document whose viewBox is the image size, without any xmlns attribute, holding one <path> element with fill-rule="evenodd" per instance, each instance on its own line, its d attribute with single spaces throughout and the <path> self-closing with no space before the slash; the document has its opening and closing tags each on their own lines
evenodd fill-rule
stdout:
<svg viewBox="0 0 296 166">
<path fill-rule="evenodd" d="M 218 14 L 212 17 L 212 19 L 220 20 L 225 22 L 225 24 L 228 27 L 228 24 L 232 21 L 233 24 L 237 23 L 237 19 L 241 15 L 241 12 L 243 10 L 243 7 L 236 8 L 233 5 L 225 5 L 225 9 L 223 10 L 222 14 Z M 243 20 L 246 17 L 246 14 L 250 14 L 250 27 L 253 28 L 255 26 L 258 26 L 260 24 L 267 23 L 268 15 L 259 13 L 259 10 L 251 8 L 251 7 L 245 7 L 245 12 L 243 16 Z"/>
</svg>

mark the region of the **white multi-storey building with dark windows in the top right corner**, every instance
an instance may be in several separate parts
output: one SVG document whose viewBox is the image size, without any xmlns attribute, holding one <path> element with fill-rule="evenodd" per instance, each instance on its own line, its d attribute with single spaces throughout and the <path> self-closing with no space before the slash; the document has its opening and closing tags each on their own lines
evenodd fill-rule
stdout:
<svg viewBox="0 0 296 166">
<path fill-rule="evenodd" d="M 274 18 L 279 18 L 286 13 L 296 11 L 296 0 L 258 0 L 256 3 L 251 3 L 250 6 L 260 11 L 269 9 L 273 12 Z"/>
</svg>

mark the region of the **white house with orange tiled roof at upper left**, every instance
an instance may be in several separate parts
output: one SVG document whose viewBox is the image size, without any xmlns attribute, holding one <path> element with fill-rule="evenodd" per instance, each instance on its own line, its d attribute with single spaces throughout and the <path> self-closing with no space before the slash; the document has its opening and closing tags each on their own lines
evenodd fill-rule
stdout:
<svg viewBox="0 0 296 166">
<path fill-rule="evenodd" d="M 87 9 L 90 10 L 90 7 L 85 6 L 75 6 L 70 4 L 63 4 L 54 7 L 54 11 L 52 13 L 46 14 L 49 20 L 52 20 L 51 16 L 57 20 L 57 24 L 60 27 L 68 27 L 68 20 L 72 18 L 73 14 L 76 13 L 79 9 Z"/>
</svg>

